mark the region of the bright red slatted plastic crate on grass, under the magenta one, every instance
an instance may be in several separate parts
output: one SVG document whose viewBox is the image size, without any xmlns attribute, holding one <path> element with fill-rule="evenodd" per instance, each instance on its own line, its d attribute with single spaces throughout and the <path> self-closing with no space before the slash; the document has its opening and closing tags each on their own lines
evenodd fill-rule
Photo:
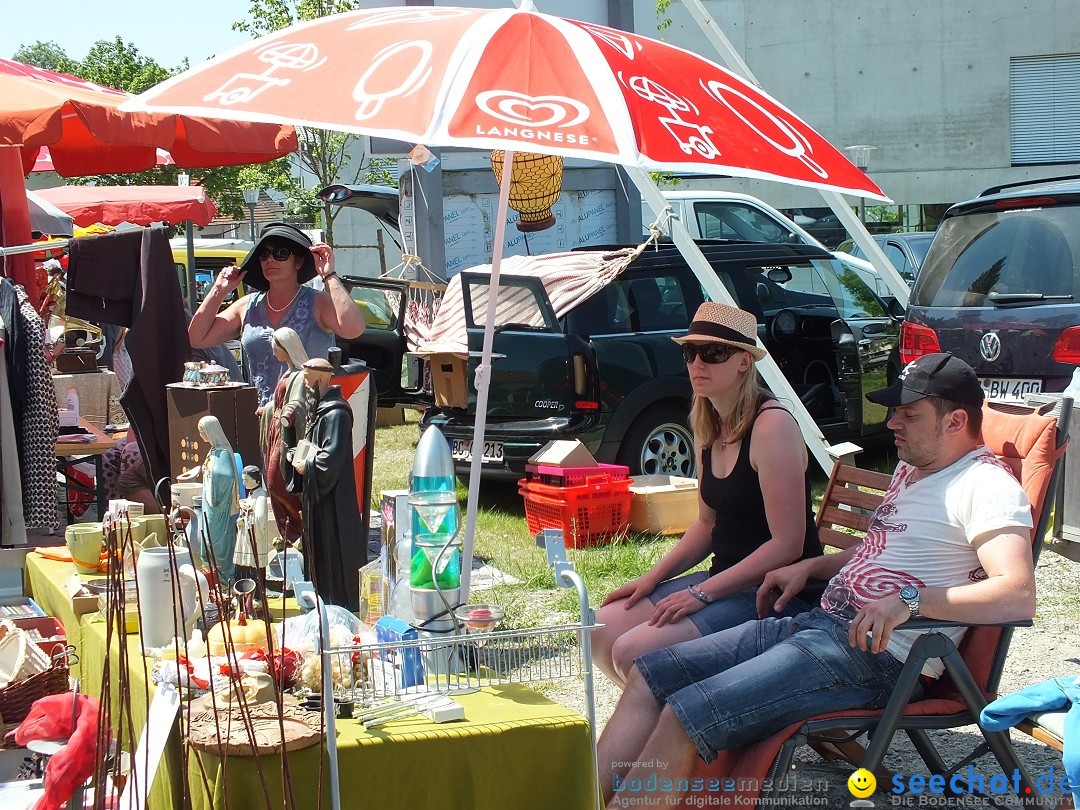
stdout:
<svg viewBox="0 0 1080 810">
<path fill-rule="evenodd" d="M 522 478 L 517 491 L 529 534 L 562 529 L 567 549 L 597 545 L 630 525 L 630 481 L 555 487 Z"/>
</svg>

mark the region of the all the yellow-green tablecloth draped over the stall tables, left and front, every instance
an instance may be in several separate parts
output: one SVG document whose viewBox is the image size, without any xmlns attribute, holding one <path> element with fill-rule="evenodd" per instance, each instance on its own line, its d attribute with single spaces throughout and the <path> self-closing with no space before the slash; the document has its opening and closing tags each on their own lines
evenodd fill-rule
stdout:
<svg viewBox="0 0 1080 810">
<path fill-rule="evenodd" d="M 46 610 L 62 620 L 60 583 L 69 572 L 65 565 L 33 554 L 27 558 L 35 598 L 43 607 L 48 604 Z M 70 615 L 70 604 L 67 611 Z M 71 615 L 69 621 L 73 618 Z M 83 687 L 100 696 L 108 625 L 96 613 L 81 617 L 78 624 L 78 642 L 71 643 L 81 658 Z M 69 629 L 68 638 L 72 636 Z M 146 659 L 135 634 L 113 634 L 109 645 L 112 666 L 117 666 L 121 644 L 127 652 L 132 725 L 137 734 L 146 723 L 152 686 L 147 684 Z M 116 669 L 109 679 L 116 705 Z M 382 810 L 594 807 L 592 747 L 589 725 L 581 715 L 521 685 L 489 687 L 456 699 L 465 708 L 465 719 L 457 723 L 435 725 L 405 718 L 368 730 L 355 720 L 339 720 L 342 808 L 361 804 Z M 179 732 L 174 729 L 150 794 L 151 810 L 184 806 L 183 772 Z M 258 760 L 230 756 L 222 761 L 216 754 L 190 751 L 187 773 L 187 793 L 194 810 L 264 808 L 266 796 L 271 807 L 283 807 L 284 771 L 279 753 Z M 325 746 L 291 752 L 288 774 L 293 807 L 330 807 Z"/>
</svg>

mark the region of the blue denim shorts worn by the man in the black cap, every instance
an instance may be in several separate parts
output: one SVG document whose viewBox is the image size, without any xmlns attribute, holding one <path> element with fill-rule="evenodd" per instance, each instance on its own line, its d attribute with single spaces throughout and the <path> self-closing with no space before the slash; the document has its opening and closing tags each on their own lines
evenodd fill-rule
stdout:
<svg viewBox="0 0 1080 810">
<path fill-rule="evenodd" d="M 706 762 L 824 712 L 880 708 L 903 663 L 852 649 L 849 622 L 815 608 L 746 622 L 636 660 Z"/>
</svg>

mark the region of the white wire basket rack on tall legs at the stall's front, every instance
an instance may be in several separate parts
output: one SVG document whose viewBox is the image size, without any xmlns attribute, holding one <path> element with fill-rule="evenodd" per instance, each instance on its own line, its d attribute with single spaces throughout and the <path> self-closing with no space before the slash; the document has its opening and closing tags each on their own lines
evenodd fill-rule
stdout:
<svg viewBox="0 0 1080 810">
<path fill-rule="evenodd" d="M 577 624 L 474 634 L 462 634 L 464 629 L 456 626 L 453 633 L 424 633 L 416 639 L 326 648 L 322 652 L 323 694 L 339 694 L 370 706 L 423 700 L 427 696 L 453 696 L 500 684 L 539 686 L 580 678 L 585 691 L 595 778 L 596 707 L 591 636 L 599 625 L 594 623 L 584 582 L 573 570 L 573 564 L 566 559 L 563 532 L 544 529 L 537 535 L 537 545 L 546 550 L 556 583 L 577 591 L 580 612 Z M 328 638 L 329 629 L 321 600 L 318 608 L 323 616 L 323 637 Z M 323 718 L 329 753 L 330 798 L 334 810 L 340 810 L 337 732 L 332 701 L 323 701 Z M 599 784 L 598 779 L 595 784 Z M 598 791 L 596 801 L 598 810 Z"/>
</svg>

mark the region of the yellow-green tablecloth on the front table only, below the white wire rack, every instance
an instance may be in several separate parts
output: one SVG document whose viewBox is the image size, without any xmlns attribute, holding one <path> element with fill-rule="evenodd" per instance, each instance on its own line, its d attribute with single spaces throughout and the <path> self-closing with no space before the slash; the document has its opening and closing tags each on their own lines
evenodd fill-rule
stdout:
<svg viewBox="0 0 1080 810">
<path fill-rule="evenodd" d="M 402 719 L 365 729 L 339 720 L 341 807 L 388 810 L 503 810 L 594 807 L 592 754 L 584 719 L 521 685 L 456 698 L 465 720 L 434 725 Z M 294 807 L 329 808 L 329 765 L 323 757 L 320 804 L 319 746 L 288 754 Z M 189 761 L 189 784 L 205 771 L 213 796 L 194 796 L 195 810 L 264 807 L 264 787 L 249 757 L 199 753 Z M 280 808 L 279 755 L 261 758 L 272 807 Z M 227 774 L 227 775 L 225 775 Z M 194 793 L 194 791 L 193 791 Z M 228 794 L 228 795 L 226 795 Z"/>
</svg>

